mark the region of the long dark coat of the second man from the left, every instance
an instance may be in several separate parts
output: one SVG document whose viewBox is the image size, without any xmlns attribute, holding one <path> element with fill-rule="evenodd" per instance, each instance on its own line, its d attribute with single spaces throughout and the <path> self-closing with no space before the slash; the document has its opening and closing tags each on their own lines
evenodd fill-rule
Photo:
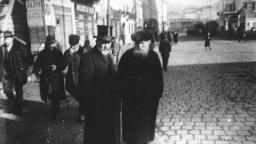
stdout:
<svg viewBox="0 0 256 144">
<path fill-rule="evenodd" d="M 53 72 L 51 65 L 56 65 L 56 70 Z M 47 98 L 56 101 L 62 101 L 66 99 L 66 93 L 64 89 L 64 78 L 62 70 L 65 69 L 64 56 L 60 50 L 44 49 L 40 51 L 37 56 L 37 60 L 34 63 L 33 71 L 35 75 L 38 75 L 40 70 L 40 96 L 43 101 L 47 101 Z M 49 94 L 50 86 L 52 93 Z"/>
</svg>

